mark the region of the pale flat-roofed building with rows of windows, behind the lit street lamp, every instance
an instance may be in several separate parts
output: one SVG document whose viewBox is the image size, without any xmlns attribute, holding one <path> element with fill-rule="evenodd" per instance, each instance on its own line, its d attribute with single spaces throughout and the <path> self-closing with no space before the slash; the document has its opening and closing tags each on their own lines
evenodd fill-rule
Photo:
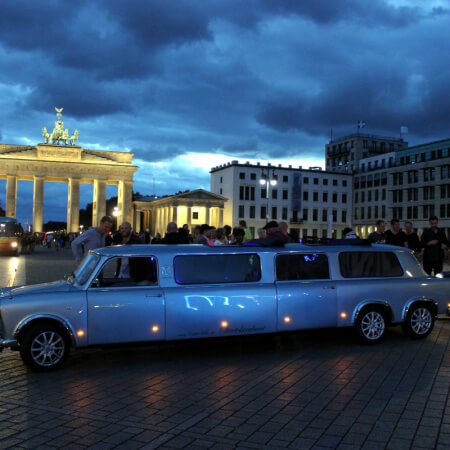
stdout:
<svg viewBox="0 0 450 450">
<path fill-rule="evenodd" d="M 254 235 L 276 220 L 300 237 L 341 237 L 352 220 L 352 175 L 320 167 L 232 161 L 211 169 L 211 191 L 229 199 L 224 224 L 234 227 L 244 219 Z"/>
</svg>

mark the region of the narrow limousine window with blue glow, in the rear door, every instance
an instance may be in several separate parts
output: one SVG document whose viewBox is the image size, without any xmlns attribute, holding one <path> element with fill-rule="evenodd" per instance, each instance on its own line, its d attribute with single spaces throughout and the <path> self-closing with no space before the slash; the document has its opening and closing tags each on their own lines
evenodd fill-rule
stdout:
<svg viewBox="0 0 450 450">
<path fill-rule="evenodd" d="M 276 268 L 278 281 L 330 278 L 327 255 L 321 253 L 278 255 Z"/>
</svg>

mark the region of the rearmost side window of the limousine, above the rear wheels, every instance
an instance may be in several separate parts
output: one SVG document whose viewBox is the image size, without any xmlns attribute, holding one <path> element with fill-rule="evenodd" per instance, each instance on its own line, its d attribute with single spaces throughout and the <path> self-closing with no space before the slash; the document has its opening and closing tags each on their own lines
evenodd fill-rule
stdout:
<svg viewBox="0 0 450 450">
<path fill-rule="evenodd" d="M 339 264 L 344 278 L 403 275 L 402 266 L 393 252 L 341 252 Z"/>
</svg>

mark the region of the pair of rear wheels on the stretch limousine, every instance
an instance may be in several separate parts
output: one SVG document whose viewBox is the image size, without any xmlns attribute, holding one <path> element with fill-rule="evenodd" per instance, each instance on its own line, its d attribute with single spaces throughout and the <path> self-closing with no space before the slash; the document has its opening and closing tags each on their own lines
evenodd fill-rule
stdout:
<svg viewBox="0 0 450 450">
<path fill-rule="evenodd" d="M 355 323 L 360 340 L 376 344 L 384 339 L 387 329 L 386 312 L 377 306 L 368 306 L 358 315 Z M 413 305 L 402 323 L 403 331 L 414 339 L 427 337 L 434 327 L 434 314 L 430 306 Z"/>
</svg>

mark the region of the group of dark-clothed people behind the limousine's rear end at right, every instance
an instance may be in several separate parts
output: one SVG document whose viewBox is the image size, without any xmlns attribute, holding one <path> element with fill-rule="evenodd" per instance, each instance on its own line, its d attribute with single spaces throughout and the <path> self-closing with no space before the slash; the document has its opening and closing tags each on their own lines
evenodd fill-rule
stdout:
<svg viewBox="0 0 450 450">
<path fill-rule="evenodd" d="M 369 234 L 368 240 L 375 244 L 397 245 L 409 248 L 416 256 L 423 251 L 423 269 L 428 275 L 442 272 L 444 266 L 445 251 L 448 250 L 448 239 L 444 230 L 438 227 L 439 219 L 436 216 L 430 217 L 430 227 L 426 228 L 422 235 L 414 231 L 413 224 L 407 220 L 404 224 L 404 231 L 401 229 L 400 221 L 392 219 L 390 229 L 386 230 L 386 222 L 377 220 L 375 231 Z M 357 238 L 356 233 L 347 228 L 344 230 L 347 239 Z M 448 254 L 448 264 L 450 265 L 450 252 Z"/>
</svg>

